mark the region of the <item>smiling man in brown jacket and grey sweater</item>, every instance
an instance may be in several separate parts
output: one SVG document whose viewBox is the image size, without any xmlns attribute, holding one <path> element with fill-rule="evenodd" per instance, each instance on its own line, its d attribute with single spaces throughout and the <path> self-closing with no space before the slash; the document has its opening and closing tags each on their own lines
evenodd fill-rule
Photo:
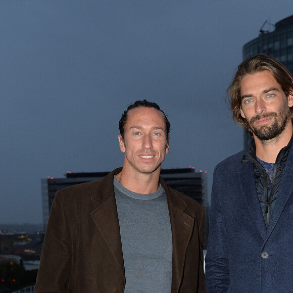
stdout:
<svg viewBox="0 0 293 293">
<path fill-rule="evenodd" d="M 203 208 L 160 178 L 165 113 L 136 101 L 119 129 L 123 168 L 57 191 L 35 292 L 205 292 Z"/>
</svg>

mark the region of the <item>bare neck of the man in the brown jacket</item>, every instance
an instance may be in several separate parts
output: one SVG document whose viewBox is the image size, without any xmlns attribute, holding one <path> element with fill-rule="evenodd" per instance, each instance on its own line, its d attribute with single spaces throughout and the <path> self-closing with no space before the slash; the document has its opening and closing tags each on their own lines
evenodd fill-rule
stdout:
<svg viewBox="0 0 293 293">
<path fill-rule="evenodd" d="M 154 193 L 160 187 L 160 170 L 159 168 L 151 174 L 137 174 L 136 172 L 125 170 L 123 167 L 122 171 L 116 175 L 116 179 L 130 191 L 142 194 Z"/>
</svg>

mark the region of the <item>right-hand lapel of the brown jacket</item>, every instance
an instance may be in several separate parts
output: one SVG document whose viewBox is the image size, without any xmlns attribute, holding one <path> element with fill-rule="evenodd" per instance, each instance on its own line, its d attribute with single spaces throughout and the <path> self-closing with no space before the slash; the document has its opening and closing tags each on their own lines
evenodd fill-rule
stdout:
<svg viewBox="0 0 293 293">
<path fill-rule="evenodd" d="M 160 183 L 165 189 L 168 199 L 169 216 L 172 230 L 172 292 L 177 292 L 183 275 L 186 250 L 192 235 L 194 218 L 185 214 L 187 207 L 181 198 L 174 198 L 169 187 L 161 178 Z"/>
</svg>

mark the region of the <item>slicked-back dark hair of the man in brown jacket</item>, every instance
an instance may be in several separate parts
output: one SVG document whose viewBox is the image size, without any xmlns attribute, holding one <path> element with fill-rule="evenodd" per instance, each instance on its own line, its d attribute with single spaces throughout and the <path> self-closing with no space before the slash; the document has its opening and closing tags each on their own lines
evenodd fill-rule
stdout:
<svg viewBox="0 0 293 293">
<path fill-rule="evenodd" d="M 134 103 L 128 105 L 126 110 L 123 112 L 122 117 L 121 117 L 121 119 L 119 121 L 119 130 L 120 130 L 120 134 L 122 136 L 122 139 L 124 140 L 124 126 L 125 126 L 125 123 L 126 123 L 126 120 L 127 120 L 127 114 L 128 114 L 128 112 L 130 110 L 138 108 L 138 107 L 155 108 L 156 110 L 158 110 L 162 114 L 162 116 L 163 116 L 163 118 L 165 120 L 165 124 L 166 124 L 166 138 L 168 140 L 168 135 L 169 135 L 169 132 L 170 132 L 170 122 L 169 122 L 166 114 L 164 113 L 163 110 L 161 110 L 161 108 L 158 106 L 158 104 L 156 104 L 154 102 L 149 102 L 149 101 L 146 101 L 146 100 L 135 101 Z"/>
</svg>

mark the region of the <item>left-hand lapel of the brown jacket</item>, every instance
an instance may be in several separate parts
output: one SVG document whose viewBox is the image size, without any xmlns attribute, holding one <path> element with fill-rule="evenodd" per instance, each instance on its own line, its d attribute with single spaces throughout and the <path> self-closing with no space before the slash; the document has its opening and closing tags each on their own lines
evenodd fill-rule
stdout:
<svg viewBox="0 0 293 293">
<path fill-rule="evenodd" d="M 99 182 L 91 197 L 91 200 L 96 202 L 99 207 L 91 212 L 91 217 L 125 277 L 120 227 L 113 187 L 113 176 L 120 170 L 112 171 Z"/>
</svg>

